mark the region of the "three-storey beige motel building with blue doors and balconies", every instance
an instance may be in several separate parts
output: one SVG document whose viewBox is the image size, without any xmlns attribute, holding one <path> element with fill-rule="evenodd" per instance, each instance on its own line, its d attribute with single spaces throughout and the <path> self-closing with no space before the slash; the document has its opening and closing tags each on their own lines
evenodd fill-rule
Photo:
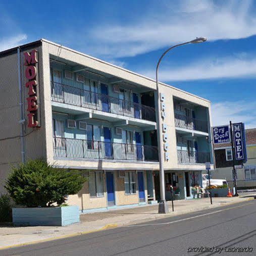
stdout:
<svg viewBox="0 0 256 256">
<path fill-rule="evenodd" d="M 0 193 L 10 164 L 44 158 L 87 177 L 67 201 L 81 213 L 160 199 L 155 80 L 45 39 L 1 52 L 0 67 Z M 211 103 L 159 86 L 166 197 L 173 185 L 189 199 L 213 169 Z"/>
</svg>

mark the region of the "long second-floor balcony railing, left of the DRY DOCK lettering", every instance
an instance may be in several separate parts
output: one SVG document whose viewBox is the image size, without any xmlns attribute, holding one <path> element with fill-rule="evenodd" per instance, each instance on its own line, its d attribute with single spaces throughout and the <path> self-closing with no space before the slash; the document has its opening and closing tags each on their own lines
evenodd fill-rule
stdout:
<svg viewBox="0 0 256 256">
<path fill-rule="evenodd" d="M 158 147 L 54 137 L 54 157 L 158 162 Z"/>
</svg>

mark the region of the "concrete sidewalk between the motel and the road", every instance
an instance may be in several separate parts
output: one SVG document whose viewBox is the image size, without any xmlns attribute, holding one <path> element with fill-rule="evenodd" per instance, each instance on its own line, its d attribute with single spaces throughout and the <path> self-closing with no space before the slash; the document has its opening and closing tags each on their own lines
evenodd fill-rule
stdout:
<svg viewBox="0 0 256 256">
<path fill-rule="evenodd" d="M 212 206 L 210 204 L 210 198 L 175 200 L 175 212 L 171 212 L 171 201 L 168 201 L 170 213 L 165 215 L 158 214 L 158 205 L 152 205 L 132 209 L 82 214 L 80 215 L 79 223 L 65 227 L 0 227 L 0 249 L 76 236 L 106 228 L 147 222 L 205 209 L 213 209 L 250 199 L 253 198 L 215 197 L 213 198 Z"/>
</svg>

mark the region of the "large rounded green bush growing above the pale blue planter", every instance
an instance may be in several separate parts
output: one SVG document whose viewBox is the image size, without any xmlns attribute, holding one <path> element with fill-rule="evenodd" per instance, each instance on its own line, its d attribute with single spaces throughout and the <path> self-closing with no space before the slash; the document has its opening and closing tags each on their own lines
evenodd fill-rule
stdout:
<svg viewBox="0 0 256 256">
<path fill-rule="evenodd" d="M 76 194 L 86 181 L 80 172 L 54 168 L 42 159 L 12 167 L 5 188 L 13 200 L 27 207 L 60 206 L 69 194 Z"/>
</svg>

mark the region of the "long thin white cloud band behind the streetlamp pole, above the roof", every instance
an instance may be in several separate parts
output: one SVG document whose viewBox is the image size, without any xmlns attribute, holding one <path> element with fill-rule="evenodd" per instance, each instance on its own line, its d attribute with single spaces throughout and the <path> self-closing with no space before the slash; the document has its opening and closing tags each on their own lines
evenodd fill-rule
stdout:
<svg viewBox="0 0 256 256">
<path fill-rule="evenodd" d="M 244 58 L 245 56 L 245 58 Z M 159 78 L 161 81 L 186 81 L 216 78 L 234 77 L 255 77 L 256 76 L 256 57 L 246 58 L 241 54 L 229 58 L 216 60 L 197 60 L 187 66 L 180 68 L 161 69 Z M 145 76 L 155 78 L 155 70 L 139 70 Z"/>
</svg>

